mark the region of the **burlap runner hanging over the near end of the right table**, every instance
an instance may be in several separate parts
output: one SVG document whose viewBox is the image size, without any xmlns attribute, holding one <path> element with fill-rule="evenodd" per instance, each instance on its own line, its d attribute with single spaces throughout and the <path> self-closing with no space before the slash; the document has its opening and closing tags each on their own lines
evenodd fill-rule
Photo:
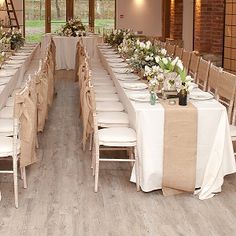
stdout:
<svg viewBox="0 0 236 236">
<path fill-rule="evenodd" d="M 169 105 L 165 108 L 162 192 L 164 196 L 193 192 L 196 180 L 197 109 Z"/>
</svg>

